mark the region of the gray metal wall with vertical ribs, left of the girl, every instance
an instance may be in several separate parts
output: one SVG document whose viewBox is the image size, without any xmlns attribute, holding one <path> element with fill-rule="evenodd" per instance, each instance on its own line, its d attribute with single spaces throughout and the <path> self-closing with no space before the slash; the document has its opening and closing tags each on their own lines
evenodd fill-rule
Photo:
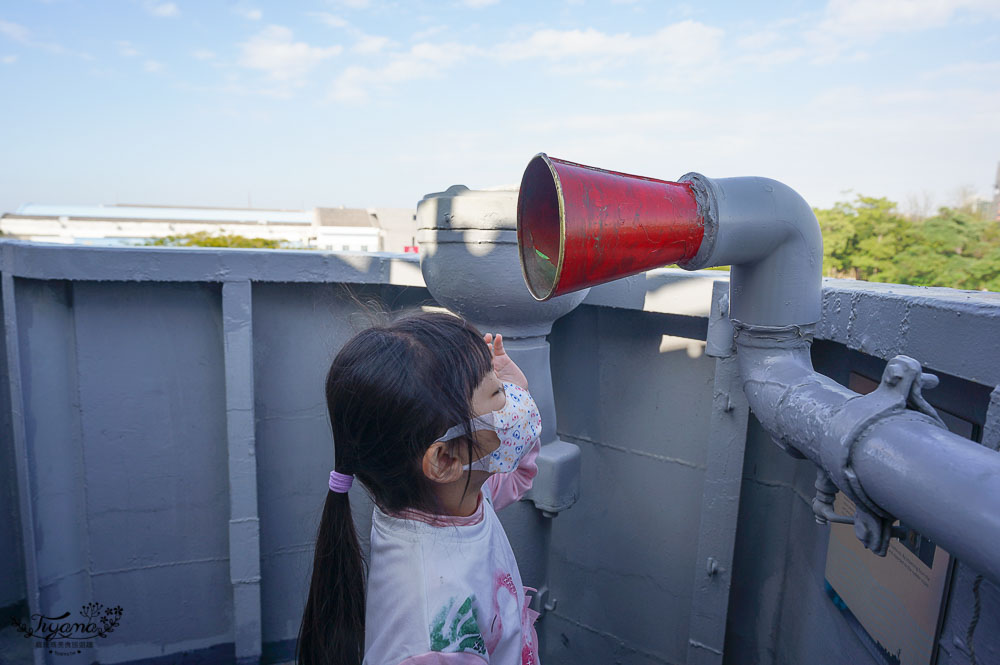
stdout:
<svg viewBox="0 0 1000 665">
<path fill-rule="evenodd" d="M 289 659 L 334 459 L 325 372 L 362 310 L 434 304 L 416 262 L 26 243 L 0 259 L 0 663 L 229 663 L 261 643 Z M 90 602 L 123 617 L 76 656 L 10 625 Z"/>
</svg>

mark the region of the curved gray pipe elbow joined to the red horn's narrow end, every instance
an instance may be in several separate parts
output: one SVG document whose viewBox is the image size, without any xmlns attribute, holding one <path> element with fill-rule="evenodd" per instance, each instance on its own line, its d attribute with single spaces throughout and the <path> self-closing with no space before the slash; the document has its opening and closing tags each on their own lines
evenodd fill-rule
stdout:
<svg viewBox="0 0 1000 665">
<path fill-rule="evenodd" d="M 755 326 L 808 326 L 821 315 L 823 236 L 809 204 L 769 178 L 683 176 L 705 218 L 687 270 L 732 266 L 730 317 Z"/>
</svg>

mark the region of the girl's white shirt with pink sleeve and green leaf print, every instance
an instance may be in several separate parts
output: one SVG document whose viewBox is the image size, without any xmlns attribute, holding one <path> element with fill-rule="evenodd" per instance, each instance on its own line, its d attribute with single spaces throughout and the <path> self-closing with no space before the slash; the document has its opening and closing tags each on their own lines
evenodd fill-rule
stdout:
<svg viewBox="0 0 1000 665">
<path fill-rule="evenodd" d="M 469 517 L 375 508 L 363 665 L 538 665 L 538 613 L 494 510 L 531 487 L 537 455 L 491 476 Z"/>
</svg>

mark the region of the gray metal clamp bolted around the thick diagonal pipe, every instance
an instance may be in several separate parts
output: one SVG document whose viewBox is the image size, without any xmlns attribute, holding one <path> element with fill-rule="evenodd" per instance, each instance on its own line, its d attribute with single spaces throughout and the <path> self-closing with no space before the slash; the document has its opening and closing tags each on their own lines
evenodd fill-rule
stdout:
<svg viewBox="0 0 1000 665">
<path fill-rule="evenodd" d="M 879 556 L 885 556 L 894 535 L 892 523 L 895 518 L 868 497 L 854 473 L 851 455 L 866 430 L 890 415 L 902 413 L 907 407 L 945 428 L 944 421 L 922 394 L 924 388 L 934 388 L 937 384 L 936 376 L 921 372 L 919 362 L 909 356 L 896 356 L 886 365 L 878 388 L 849 400 L 833 416 L 822 446 L 825 471 L 821 470 L 816 479 L 813 512 L 817 521 L 853 523 L 858 540 Z M 857 512 L 853 519 L 833 512 L 831 487 L 840 488 L 854 502 Z"/>
</svg>

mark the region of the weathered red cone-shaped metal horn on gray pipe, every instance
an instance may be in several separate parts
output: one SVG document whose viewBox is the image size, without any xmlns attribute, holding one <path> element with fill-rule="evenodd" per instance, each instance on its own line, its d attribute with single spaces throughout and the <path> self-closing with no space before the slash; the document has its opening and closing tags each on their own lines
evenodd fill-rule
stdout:
<svg viewBox="0 0 1000 665">
<path fill-rule="evenodd" d="M 705 232 L 687 183 L 536 155 L 517 199 L 521 270 L 538 300 L 694 258 Z"/>
</svg>

